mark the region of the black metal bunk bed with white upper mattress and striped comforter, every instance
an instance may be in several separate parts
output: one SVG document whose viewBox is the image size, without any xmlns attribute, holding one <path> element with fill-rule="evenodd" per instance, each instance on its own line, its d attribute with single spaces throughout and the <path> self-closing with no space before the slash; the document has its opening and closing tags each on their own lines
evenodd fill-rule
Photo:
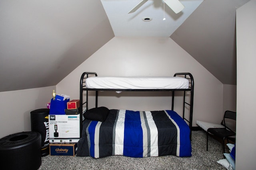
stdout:
<svg viewBox="0 0 256 170">
<path fill-rule="evenodd" d="M 160 82 L 160 85 L 155 82 Z M 95 108 L 92 109 L 88 109 L 89 91 L 95 91 Z M 172 92 L 171 110 L 109 110 L 98 107 L 99 91 Z M 177 91 L 183 92 L 182 117 L 174 111 Z M 189 102 L 185 98 L 189 98 Z M 80 79 L 80 140 L 77 156 L 191 156 L 193 98 L 194 79 L 190 73 L 175 73 L 172 77 L 98 77 L 96 72 L 84 72 Z M 185 107 L 188 108 L 188 119 Z M 86 119 L 83 120 L 83 116 Z"/>
</svg>

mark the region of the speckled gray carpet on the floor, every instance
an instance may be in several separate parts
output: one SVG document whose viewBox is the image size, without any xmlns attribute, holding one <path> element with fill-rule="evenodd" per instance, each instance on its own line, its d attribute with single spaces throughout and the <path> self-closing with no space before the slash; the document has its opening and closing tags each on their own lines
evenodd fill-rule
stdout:
<svg viewBox="0 0 256 170">
<path fill-rule="evenodd" d="M 206 151 L 206 133 L 192 131 L 192 156 L 160 156 L 130 158 L 108 156 L 91 158 L 78 156 L 45 156 L 39 170 L 225 170 L 216 161 L 223 159 L 221 143 L 209 137 Z"/>
</svg>

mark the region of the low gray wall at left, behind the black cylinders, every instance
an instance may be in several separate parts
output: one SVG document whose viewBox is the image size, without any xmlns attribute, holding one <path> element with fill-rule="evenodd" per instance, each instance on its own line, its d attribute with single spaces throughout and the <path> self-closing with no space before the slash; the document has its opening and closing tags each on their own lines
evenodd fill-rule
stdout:
<svg viewBox="0 0 256 170">
<path fill-rule="evenodd" d="M 0 138 L 31 131 L 30 111 L 46 108 L 55 86 L 0 92 Z"/>
</svg>

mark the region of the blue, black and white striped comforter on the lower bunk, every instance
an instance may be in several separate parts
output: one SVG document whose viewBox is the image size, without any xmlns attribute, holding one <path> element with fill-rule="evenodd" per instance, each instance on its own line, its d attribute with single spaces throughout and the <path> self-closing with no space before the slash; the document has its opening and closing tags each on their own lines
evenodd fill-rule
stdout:
<svg viewBox="0 0 256 170">
<path fill-rule="evenodd" d="M 110 110 L 104 122 L 83 122 L 77 156 L 191 156 L 190 129 L 172 110 Z"/>
</svg>

